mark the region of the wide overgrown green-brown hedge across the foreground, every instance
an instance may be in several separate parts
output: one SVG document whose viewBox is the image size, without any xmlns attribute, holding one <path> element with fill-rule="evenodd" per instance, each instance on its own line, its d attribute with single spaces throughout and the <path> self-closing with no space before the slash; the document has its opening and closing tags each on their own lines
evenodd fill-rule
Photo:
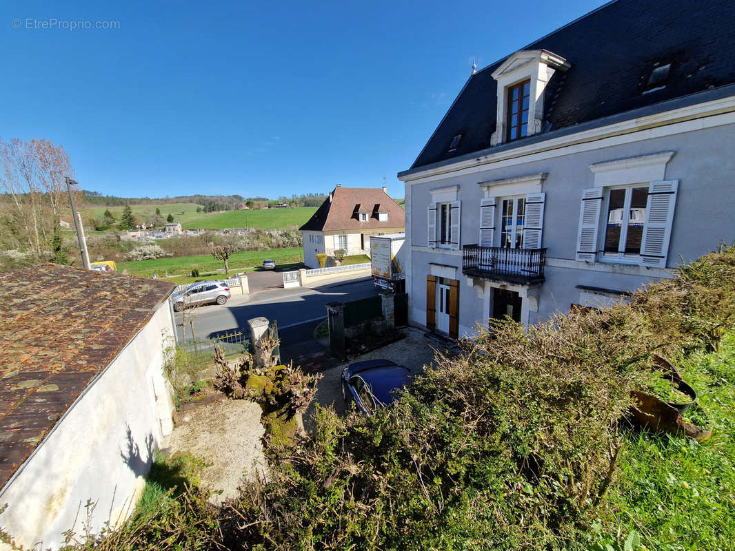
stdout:
<svg viewBox="0 0 735 551">
<path fill-rule="evenodd" d="M 373 417 L 318 408 L 309 439 L 270 447 L 267 483 L 221 508 L 183 494 L 115 549 L 587 550 L 653 354 L 714 349 L 734 321 L 723 248 L 631 304 L 480 329 Z"/>
</svg>

